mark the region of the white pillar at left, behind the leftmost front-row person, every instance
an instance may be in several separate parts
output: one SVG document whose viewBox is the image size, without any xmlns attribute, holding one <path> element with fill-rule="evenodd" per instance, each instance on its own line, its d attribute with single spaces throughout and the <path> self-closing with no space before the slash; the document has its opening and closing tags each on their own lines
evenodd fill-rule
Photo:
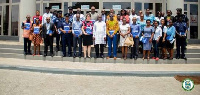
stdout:
<svg viewBox="0 0 200 95">
<path fill-rule="evenodd" d="M 31 16 L 31 20 L 32 17 L 35 15 L 35 11 L 36 11 L 36 0 L 21 0 L 20 1 L 20 8 L 19 8 L 19 41 L 23 42 L 23 38 L 22 38 L 22 34 L 23 34 L 23 30 L 21 29 L 21 23 L 26 20 L 26 16 L 30 15 Z"/>
</svg>

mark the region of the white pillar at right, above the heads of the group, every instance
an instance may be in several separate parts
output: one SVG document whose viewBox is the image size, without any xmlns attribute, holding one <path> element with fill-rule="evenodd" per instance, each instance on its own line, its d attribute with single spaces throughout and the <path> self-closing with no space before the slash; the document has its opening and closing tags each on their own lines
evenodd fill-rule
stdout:
<svg viewBox="0 0 200 95">
<path fill-rule="evenodd" d="M 172 11 L 173 16 L 176 16 L 177 8 L 181 8 L 184 12 L 184 0 L 167 0 L 167 9 Z"/>
</svg>

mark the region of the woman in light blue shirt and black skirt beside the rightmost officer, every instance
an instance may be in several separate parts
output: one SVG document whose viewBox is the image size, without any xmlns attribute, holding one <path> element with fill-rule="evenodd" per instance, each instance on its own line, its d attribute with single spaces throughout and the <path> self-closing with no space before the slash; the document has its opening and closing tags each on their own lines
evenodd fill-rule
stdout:
<svg viewBox="0 0 200 95">
<path fill-rule="evenodd" d="M 169 27 L 167 28 L 167 33 L 166 33 L 166 48 L 170 55 L 169 60 L 173 59 L 175 33 L 176 33 L 176 28 L 173 26 L 172 20 L 169 20 Z"/>
</svg>

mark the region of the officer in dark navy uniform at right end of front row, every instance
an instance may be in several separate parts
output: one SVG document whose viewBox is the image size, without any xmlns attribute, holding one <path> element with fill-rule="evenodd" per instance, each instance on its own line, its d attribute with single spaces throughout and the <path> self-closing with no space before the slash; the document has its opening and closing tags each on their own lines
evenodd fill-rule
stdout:
<svg viewBox="0 0 200 95">
<path fill-rule="evenodd" d="M 176 27 L 176 59 L 180 57 L 182 59 L 187 59 L 185 57 L 185 47 L 186 47 L 186 33 L 187 33 L 187 24 L 182 21 L 182 17 L 179 17 L 179 21 L 175 24 Z M 180 48 L 181 48 L 181 56 L 180 56 Z"/>
</svg>

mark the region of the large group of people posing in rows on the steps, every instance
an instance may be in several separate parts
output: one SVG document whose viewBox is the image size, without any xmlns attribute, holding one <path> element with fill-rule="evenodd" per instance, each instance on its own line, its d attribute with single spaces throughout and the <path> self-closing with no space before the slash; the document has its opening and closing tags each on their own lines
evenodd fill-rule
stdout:
<svg viewBox="0 0 200 95">
<path fill-rule="evenodd" d="M 142 48 L 143 60 L 146 58 L 146 53 L 147 60 L 150 59 L 151 50 L 154 51 L 152 59 L 159 60 L 159 50 L 161 50 L 161 58 L 172 60 L 176 40 L 176 58 L 186 59 L 188 18 L 182 14 L 180 8 L 177 8 L 176 16 L 172 16 L 171 10 L 167 10 L 166 16 L 161 12 L 157 12 L 154 16 L 149 9 L 146 9 L 145 14 L 142 11 L 136 14 L 134 9 L 131 11 L 122 9 L 121 14 L 115 14 L 114 10 L 110 9 L 110 13 L 106 15 L 104 9 L 98 14 L 92 6 L 91 12 L 84 16 L 80 8 L 77 8 L 77 13 L 74 14 L 72 7 L 69 7 L 69 13 L 66 13 L 65 17 L 62 16 L 62 11 L 51 13 L 50 7 L 45 9 L 46 13 L 43 16 L 36 11 L 36 16 L 32 20 L 27 15 L 27 19 L 22 22 L 25 54 L 32 54 L 30 50 L 32 42 L 34 44 L 33 55 L 40 55 L 40 44 L 44 42 L 44 56 L 47 56 L 48 46 L 50 46 L 50 55 L 53 57 L 55 37 L 56 51 L 60 51 L 60 46 L 62 46 L 63 57 L 66 57 L 68 53 L 69 57 L 81 58 L 83 47 L 83 57 L 91 58 L 91 46 L 94 44 L 95 58 L 104 58 L 104 48 L 108 45 L 107 59 L 113 57 L 116 60 L 119 49 L 122 52 L 122 59 L 127 59 L 130 47 L 131 59 L 136 60 L 139 48 Z M 134 41 L 132 46 L 125 43 L 130 37 Z M 66 52 L 66 45 L 68 52 Z M 38 50 L 37 54 L 36 50 Z M 167 57 L 167 51 L 169 57 Z"/>
</svg>

